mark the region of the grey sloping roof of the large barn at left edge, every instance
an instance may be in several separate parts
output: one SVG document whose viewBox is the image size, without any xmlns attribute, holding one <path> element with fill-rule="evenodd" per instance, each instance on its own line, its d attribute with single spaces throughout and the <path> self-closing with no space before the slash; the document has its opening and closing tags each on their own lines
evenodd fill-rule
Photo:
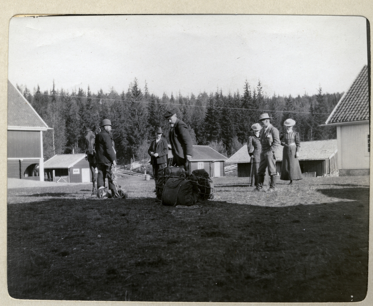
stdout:
<svg viewBox="0 0 373 306">
<path fill-rule="evenodd" d="M 8 80 L 8 130 L 41 130 L 48 125 Z"/>
</svg>

